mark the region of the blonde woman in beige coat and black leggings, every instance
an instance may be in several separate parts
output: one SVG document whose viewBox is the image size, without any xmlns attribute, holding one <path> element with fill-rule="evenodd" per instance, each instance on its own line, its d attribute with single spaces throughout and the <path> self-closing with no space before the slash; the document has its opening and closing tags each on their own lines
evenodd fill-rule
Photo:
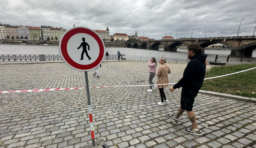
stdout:
<svg viewBox="0 0 256 148">
<path fill-rule="evenodd" d="M 171 73 L 170 67 L 166 65 L 166 59 L 160 58 L 159 64 L 162 64 L 156 75 L 158 76 L 157 84 L 168 84 L 168 73 Z M 160 92 L 161 102 L 158 102 L 159 105 L 165 105 L 164 102 L 168 102 L 168 100 L 165 97 L 165 92 L 163 91 L 164 88 L 166 88 L 168 85 L 157 85 L 157 88 Z"/>
</svg>

